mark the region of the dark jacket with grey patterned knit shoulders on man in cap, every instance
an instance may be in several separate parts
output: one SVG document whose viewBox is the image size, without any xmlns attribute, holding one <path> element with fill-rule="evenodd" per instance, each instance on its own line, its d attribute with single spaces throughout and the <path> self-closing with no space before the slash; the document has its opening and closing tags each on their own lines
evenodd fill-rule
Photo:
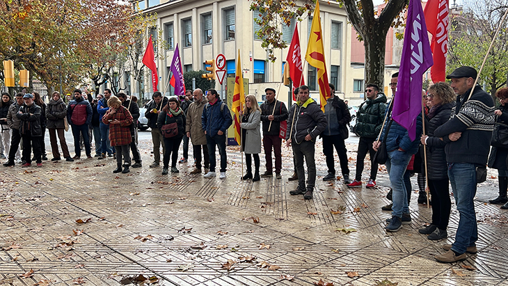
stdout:
<svg viewBox="0 0 508 286">
<path fill-rule="evenodd" d="M 457 106 L 452 116 L 434 132 L 434 136 L 445 141 L 446 161 L 448 163 L 470 163 L 485 165 L 489 157 L 492 130 L 494 127 L 494 101 L 491 95 L 480 86 L 475 86 L 457 96 Z M 462 132 L 457 141 L 450 141 L 448 134 Z"/>
</svg>

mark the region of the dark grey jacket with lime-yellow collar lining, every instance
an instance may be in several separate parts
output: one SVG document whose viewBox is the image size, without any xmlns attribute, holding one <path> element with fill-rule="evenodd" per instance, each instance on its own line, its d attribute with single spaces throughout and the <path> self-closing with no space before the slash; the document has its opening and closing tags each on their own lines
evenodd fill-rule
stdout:
<svg viewBox="0 0 508 286">
<path fill-rule="evenodd" d="M 293 114 L 296 115 L 293 118 Z M 293 143 L 300 144 L 305 141 L 305 136 L 310 134 L 312 142 L 316 142 L 317 136 L 326 128 L 328 121 L 324 116 L 319 105 L 309 98 L 306 102 L 297 102 L 289 109 L 289 119 L 287 120 L 286 140 L 292 139 Z M 291 132 L 291 130 L 293 130 Z M 292 137 L 289 138 L 289 134 Z"/>
</svg>

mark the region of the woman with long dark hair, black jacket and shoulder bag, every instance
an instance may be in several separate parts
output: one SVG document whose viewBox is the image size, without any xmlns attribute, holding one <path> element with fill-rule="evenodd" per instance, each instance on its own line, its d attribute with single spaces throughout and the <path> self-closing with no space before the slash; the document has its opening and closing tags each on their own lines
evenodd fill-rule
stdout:
<svg viewBox="0 0 508 286">
<path fill-rule="evenodd" d="M 157 118 L 157 128 L 161 129 L 163 125 L 171 124 L 176 122 L 178 127 L 178 134 L 166 138 L 164 137 L 164 144 L 166 146 L 166 152 L 164 152 L 164 168 L 162 168 L 162 175 L 168 174 L 169 159 L 171 158 L 171 173 L 179 173 L 180 171 L 176 168 L 178 161 L 178 149 L 182 138 L 185 133 L 186 118 L 184 111 L 180 108 L 180 102 L 176 97 L 171 97 L 168 100 L 168 104 L 164 106 L 159 117 Z M 172 154 L 173 153 L 173 154 Z"/>
</svg>

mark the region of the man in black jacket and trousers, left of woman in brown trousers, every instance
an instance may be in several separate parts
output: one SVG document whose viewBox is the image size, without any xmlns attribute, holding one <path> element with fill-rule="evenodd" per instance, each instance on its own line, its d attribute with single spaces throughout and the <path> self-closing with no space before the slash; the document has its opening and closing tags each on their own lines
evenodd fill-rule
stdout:
<svg viewBox="0 0 508 286">
<path fill-rule="evenodd" d="M 23 138 L 23 158 L 26 163 L 22 167 L 31 166 L 31 149 L 33 146 L 33 157 L 38 167 L 42 167 L 42 150 L 40 148 L 40 136 L 42 136 L 42 127 L 40 127 L 40 106 L 33 103 L 33 95 L 26 93 L 23 97 L 24 104 L 19 107 L 16 114 L 19 119 L 19 133 Z"/>
</svg>

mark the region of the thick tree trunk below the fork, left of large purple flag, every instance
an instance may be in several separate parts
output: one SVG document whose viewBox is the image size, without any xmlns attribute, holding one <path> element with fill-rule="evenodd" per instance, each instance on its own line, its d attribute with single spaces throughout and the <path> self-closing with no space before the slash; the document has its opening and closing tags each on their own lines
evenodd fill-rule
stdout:
<svg viewBox="0 0 508 286">
<path fill-rule="evenodd" d="M 386 33 L 372 29 L 365 31 L 365 84 L 376 84 L 382 90 L 385 72 Z"/>
</svg>

